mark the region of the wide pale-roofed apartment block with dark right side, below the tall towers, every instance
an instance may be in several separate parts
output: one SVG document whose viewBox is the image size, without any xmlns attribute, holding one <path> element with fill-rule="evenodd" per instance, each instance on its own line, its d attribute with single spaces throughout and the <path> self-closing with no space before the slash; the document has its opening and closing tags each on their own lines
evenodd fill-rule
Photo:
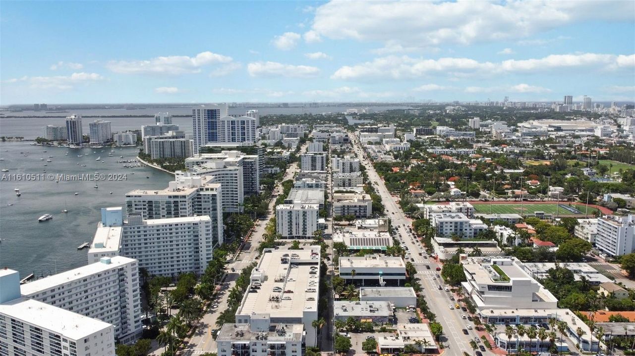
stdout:
<svg viewBox="0 0 635 356">
<path fill-rule="evenodd" d="M 224 167 L 239 167 L 242 178 L 239 179 L 244 195 L 260 193 L 260 155 L 245 155 L 240 151 L 221 151 L 220 153 L 200 153 L 185 159 L 185 168 L 197 175 L 208 175 L 208 163 L 222 162 Z M 217 167 L 215 165 L 213 167 Z M 218 166 L 220 167 L 220 166 Z M 217 168 L 213 168 L 217 169 Z M 211 173 L 209 175 L 212 175 Z M 235 184 L 238 184 L 237 182 Z"/>
</svg>

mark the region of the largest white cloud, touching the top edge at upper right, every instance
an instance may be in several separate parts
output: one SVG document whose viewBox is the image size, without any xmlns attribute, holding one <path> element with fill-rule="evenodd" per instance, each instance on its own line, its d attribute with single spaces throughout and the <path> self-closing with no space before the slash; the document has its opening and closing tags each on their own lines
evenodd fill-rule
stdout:
<svg viewBox="0 0 635 356">
<path fill-rule="evenodd" d="M 585 20 L 631 21 L 632 1 L 330 1 L 313 37 L 410 46 L 526 39 Z M 363 14 L 363 16 L 361 15 Z"/>
</svg>

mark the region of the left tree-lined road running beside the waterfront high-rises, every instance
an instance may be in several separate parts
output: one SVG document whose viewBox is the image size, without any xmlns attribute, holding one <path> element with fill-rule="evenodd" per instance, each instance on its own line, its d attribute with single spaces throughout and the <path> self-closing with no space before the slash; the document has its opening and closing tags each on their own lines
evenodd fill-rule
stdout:
<svg viewBox="0 0 635 356">
<path fill-rule="evenodd" d="M 307 149 L 307 146 L 308 144 L 302 146 L 302 148 L 300 148 L 300 153 L 303 153 Z M 298 163 L 291 164 L 287 168 L 282 181 L 277 182 L 276 188 L 274 188 L 274 193 L 282 192 L 282 182 L 288 179 L 293 179 L 297 172 L 299 172 Z M 276 199 L 272 198 L 269 202 L 269 212 L 267 215 L 264 219 L 256 221 L 256 226 L 251 233 L 250 239 L 243 244 L 243 247 L 236 255 L 236 258 L 227 264 L 227 270 L 230 271 L 234 268 L 235 272 L 228 272 L 224 283 L 221 284 L 222 289 L 216 301 L 218 307 L 211 308 L 205 315 L 203 315 L 203 318 L 196 327 L 196 331 L 192 335 L 192 338 L 184 342 L 185 348 L 182 352 L 179 352 L 180 355 L 201 355 L 206 352 L 217 352 L 217 344 L 211 336 L 211 331 L 213 329 L 220 329 L 220 327 L 216 326 L 218 315 L 220 315 L 220 312 L 228 308 L 227 297 L 229 296 L 229 290 L 234 288 L 236 279 L 240 276 L 241 270 L 250 265 L 252 262 L 257 261 L 257 257 L 260 254 L 258 246 L 265 234 L 265 227 L 269 223 L 269 220 L 276 216 L 276 212 L 274 210 L 275 203 Z"/>
</svg>

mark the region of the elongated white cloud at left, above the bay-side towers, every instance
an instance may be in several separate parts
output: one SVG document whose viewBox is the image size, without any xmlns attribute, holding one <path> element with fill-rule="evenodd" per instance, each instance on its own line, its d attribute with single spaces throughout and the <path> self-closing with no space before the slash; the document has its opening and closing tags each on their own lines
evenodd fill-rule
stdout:
<svg viewBox="0 0 635 356">
<path fill-rule="evenodd" d="M 194 57 L 162 56 L 141 61 L 110 61 L 106 67 L 123 74 L 168 74 L 179 75 L 200 73 L 201 67 L 213 64 L 231 63 L 232 58 L 222 54 L 201 52 Z"/>
</svg>

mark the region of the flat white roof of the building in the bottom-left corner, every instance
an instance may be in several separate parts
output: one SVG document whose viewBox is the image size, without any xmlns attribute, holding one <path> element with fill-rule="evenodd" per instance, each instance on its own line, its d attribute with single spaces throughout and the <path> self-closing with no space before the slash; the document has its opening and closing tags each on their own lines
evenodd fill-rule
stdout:
<svg viewBox="0 0 635 356">
<path fill-rule="evenodd" d="M 85 317 L 84 315 L 69 312 L 68 310 L 29 298 L 18 298 L 11 300 L 11 302 L 0 304 L 0 314 L 37 325 L 73 340 L 81 340 L 90 334 L 112 327 L 107 322 Z"/>
</svg>

